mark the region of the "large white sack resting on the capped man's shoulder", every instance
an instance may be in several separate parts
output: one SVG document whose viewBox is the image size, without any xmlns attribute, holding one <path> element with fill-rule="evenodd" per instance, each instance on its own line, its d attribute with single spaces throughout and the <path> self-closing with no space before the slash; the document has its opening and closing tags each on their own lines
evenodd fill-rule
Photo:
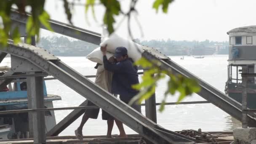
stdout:
<svg viewBox="0 0 256 144">
<path fill-rule="evenodd" d="M 107 51 L 111 53 L 115 53 L 115 49 L 120 46 L 127 48 L 128 57 L 133 59 L 133 61 L 137 61 L 141 58 L 142 45 L 134 43 L 131 40 L 125 40 L 117 34 L 110 35 L 109 38 L 100 44 L 100 46 L 105 45 L 107 45 Z"/>
</svg>

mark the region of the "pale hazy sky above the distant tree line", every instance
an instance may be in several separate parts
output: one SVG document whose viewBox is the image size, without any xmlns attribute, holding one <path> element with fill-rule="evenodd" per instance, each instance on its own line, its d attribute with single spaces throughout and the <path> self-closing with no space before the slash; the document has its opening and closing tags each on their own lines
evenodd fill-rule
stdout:
<svg viewBox="0 0 256 144">
<path fill-rule="evenodd" d="M 130 0 L 121 0 L 123 11 L 129 7 Z M 84 0 L 80 0 L 83 3 Z M 227 31 L 236 27 L 256 25 L 256 0 L 175 0 L 168 9 L 168 14 L 158 13 L 152 9 L 154 0 L 139 0 L 137 10 L 144 37 L 141 37 L 139 27 L 132 19 L 131 25 L 135 38 L 146 40 L 199 40 L 214 41 L 228 40 Z M 51 19 L 67 22 L 64 14 L 63 3 L 60 0 L 47 0 L 45 8 L 51 15 Z M 90 10 L 89 10 L 90 11 Z M 88 21 L 85 21 L 83 6 L 77 5 L 74 9 L 73 23 L 77 27 L 95 32 L 102 32 L 101 24 L 104 8 L 96 6 L 95 22 L 91 11 L 88 13 Z M 117 17 L 117 23 L 123 17 Z M 117 24 L 116 24 L 117 26 Z M 45 30 L 41 36 L 53 35 Z M 123 37 L 127 35 L 127 21 L 121 23 L 117 34 Z"/>
</svg>

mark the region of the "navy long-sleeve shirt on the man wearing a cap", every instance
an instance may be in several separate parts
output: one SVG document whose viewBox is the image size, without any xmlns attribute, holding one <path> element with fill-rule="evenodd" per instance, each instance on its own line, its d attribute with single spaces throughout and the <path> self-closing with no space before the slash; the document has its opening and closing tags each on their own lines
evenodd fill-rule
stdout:
<svg viewBox="0 0 256 144">
<path fill-rule="evenodd" d="M 112 93 L 119 94 L 120 99 L 128 103 L 139 92 L 131 88 L 131 85 L 139 83 L 138 69 L 134 68 L 128 59 L 112 64 L 107 60 L 107 56 L 103 56 L 103 63 L 106 70 L 114 72 Z"/>
</svg>

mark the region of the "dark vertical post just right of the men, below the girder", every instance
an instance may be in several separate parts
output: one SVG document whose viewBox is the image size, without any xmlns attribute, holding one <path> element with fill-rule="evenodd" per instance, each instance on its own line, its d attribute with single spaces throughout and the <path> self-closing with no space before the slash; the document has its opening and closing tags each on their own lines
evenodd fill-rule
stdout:
<svg viewBox="0 0 256 144">
<path fill-rule="evenodd" d="M 155 93 L 149 99 L 145 100 L 145 111 L 146 117 L 157 123 Z"/>
</svg>

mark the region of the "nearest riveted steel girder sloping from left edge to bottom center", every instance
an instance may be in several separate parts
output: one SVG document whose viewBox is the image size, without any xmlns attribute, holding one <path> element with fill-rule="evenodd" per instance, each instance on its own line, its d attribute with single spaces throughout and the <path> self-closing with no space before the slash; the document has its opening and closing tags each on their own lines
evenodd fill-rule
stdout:
<svg viewBox="0 0 256 144">
<path fill-rule="evenodd" d="M 27 44 L 15 45 L 8 43 L 8 46 L 0 49 L 0 51 L 17 56 L 31 63 L 34 67 L 47 72 L 48 75 L 56 77 L 62 83 L 69 86 L 69 88 L 72 88 L 77 93 L 80 93 L 81 96 L 84 96 L 106 112 L 121 120 L 125 125 L 154 144 L 195 143 L 192 138 L 160 127 L 160 125 L 144 117 L 141 113 L 133 110 L 130 106 L 115 96 L 112 96 L 91 80 L 88 80 L 74 69 L 68 67 L 60 59 L 48 53 L 43 48 L 37 48 Z"/>
</svg>

